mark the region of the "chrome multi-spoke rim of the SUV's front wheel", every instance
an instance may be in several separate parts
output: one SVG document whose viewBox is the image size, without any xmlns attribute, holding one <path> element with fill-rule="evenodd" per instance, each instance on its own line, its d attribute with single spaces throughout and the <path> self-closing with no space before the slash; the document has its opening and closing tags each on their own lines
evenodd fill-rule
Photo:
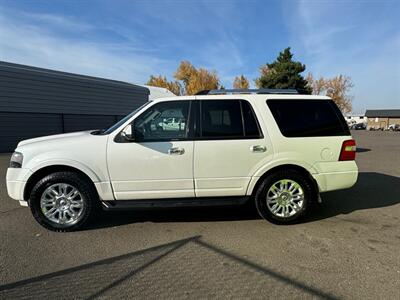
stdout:
<svg viewBox="0 0 400 300">
<path fill-rule="evenodd" d="M 74 186 L 56 183 L 43 192 L 40 208 L 50 221 L 70 226 L 76 224 L 83 216 L 85 201 Z"/>
</svg>

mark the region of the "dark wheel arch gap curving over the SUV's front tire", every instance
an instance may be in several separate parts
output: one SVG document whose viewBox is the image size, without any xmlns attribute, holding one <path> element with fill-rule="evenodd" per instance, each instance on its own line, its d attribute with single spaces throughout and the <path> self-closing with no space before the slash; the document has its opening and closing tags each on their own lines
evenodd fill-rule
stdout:
<svg viewBox="0 0 400 300">
<path fill-rule="evenodd" d="M 69 172 L 74 172 L 77 174 L 80 174 L 81 176 L 83 176 L 94 188 L 94 190 L 97 193 L 93 178 L 90 177 L 88 174 L 86 174 L 86 172 L 73 167 L 73 166 L 69 166 L 69 165 L 62 165 L 62 164 L 57 164 L 57 165 L 49 165 L 49 166 L 45 166 L 42 167 L 40 169 L 37 169 L 28 179 L 28 181 L 25 184 L 25 188 L 24 188 L 24 200 L 27 201 L 29 199 L 29 195 L 32 192 L 33 187 L 35 186 L 35 184 L 42 179 L 43 177 L 55 173 L 55 172 L 65 172 L 65 171 L 69 171 Z"/>
</svg>

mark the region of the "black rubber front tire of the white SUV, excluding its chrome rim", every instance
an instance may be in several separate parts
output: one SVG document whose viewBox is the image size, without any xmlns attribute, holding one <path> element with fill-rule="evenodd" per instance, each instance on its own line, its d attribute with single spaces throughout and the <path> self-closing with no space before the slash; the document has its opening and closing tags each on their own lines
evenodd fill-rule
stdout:
<svg viewBox="0 0 400 300">
<path fill-rule="evenodd" d="M 82 195 L 84 209 L 75 224 L 66 225 L 53 222 L 42 212 L 40 200 L 43 193 L 48 187 L 58 183 L 71 185 Z M 94 186 L 83 175 L 74 172 L 56 172 L 45 176 L 35 184 L 29 198 L 29 206 L 36 221 L 46 229 L 57 232 L 81 229 L 95 215 L 98 205 L 98 195 Z"/>
</svg>

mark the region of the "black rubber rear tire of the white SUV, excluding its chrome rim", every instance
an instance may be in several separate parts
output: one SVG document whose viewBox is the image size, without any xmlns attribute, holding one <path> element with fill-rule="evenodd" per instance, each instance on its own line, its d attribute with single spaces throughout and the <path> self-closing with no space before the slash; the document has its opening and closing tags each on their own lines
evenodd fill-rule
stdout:
<svg viewBox="0 0 400 300">
<path fill-rule="evenodd" d="M 304 196 L 301 209 L 294 215 L 287 217 L 280 217 L 273 214 L 272 211 L 268 208 L 266 200 L 269 189 L 276 182 L 283 179 L 295 181 L 298 185 L 300 185 L 301 189 L 303 190 Z M 310 179 L 308 179 L 303 173 L 297 170 L 286 169 L 272 173 L 263 180 L 256 191 L 255 203 L 257 211 L 262 218 L 275 224 L 293 224 L 306 214 L 306 211 L 309 208 L 312 199 L 316 199 L 315 197 L 315 190 Z"/>
</svg>

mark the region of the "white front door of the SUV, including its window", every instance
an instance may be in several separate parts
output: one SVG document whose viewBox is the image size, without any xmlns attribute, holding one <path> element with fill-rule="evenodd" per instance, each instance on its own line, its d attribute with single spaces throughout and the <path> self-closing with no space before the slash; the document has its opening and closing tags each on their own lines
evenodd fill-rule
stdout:
<svg viewBox="0 0 400 300">
<path fill-rule="evenodd" d="M 109 141 L 116 200 L 194 197 L 190 101 L 164 101 L 135 118 L 135 140 Z"/>
</svg>

